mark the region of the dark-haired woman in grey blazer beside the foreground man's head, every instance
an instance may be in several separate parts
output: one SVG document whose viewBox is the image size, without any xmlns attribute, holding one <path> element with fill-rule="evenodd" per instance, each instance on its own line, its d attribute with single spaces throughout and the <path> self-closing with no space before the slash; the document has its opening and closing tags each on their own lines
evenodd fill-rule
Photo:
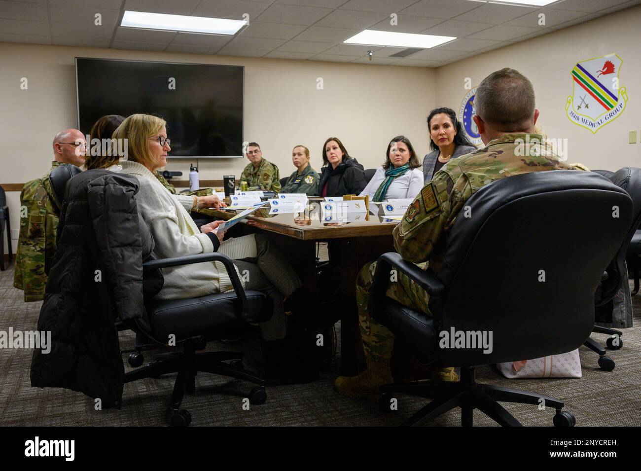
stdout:
<svg viewBox="0 0 641 471">
<path fill-rule="evenodd" d="M 430 181 L 451 159 L 476 151 L 451 108 L 435 108 L 429 112 L 429 148 L 432 152 L 423 158 L 423 177 Z"/>
</svg>

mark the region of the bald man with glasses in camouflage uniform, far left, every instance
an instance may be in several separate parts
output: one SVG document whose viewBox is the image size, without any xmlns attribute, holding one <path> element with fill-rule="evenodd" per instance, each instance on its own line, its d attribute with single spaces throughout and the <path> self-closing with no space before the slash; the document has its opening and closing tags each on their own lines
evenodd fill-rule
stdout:
<svg viewBox="0 0 641 471">
<path fill-rule="evenodd" d="M 24 291 L 24 301 L 44 297 L 47 272 L 56 251 L 56 228 L 60 208 L 53 197 L 49 174 L 63 163 L 81 167 L 87 142 L 78 129 L 65 129 L 53 138 L 53 161 L 44 176 L 31 180 L 20 194 L 20 234 L 15 254 L 13 286 Z"/>
</svg>

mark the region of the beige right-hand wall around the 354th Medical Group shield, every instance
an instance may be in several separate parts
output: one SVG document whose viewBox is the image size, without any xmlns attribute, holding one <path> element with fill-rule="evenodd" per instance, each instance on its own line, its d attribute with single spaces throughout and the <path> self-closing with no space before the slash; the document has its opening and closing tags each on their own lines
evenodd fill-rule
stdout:
<svg viewBox="0 0 641 471">
<path fill-rule="evenodd" d="M 640 28 L 641 6 L 636 6 L 445 65 L 437 69 L 437 106 L 458 113 L 467 92 L 466 77 L 476 87 L 490 72 L 512 67 L 532 81 L 539 123 L 550 138 L 567 139 L 570 163 L 582 162 L 590 169 L 641 167 L 641 144 L 628 144 L 628 131 L 641 130 Z M 565 101 L 572 95 L 570 70 L 581 60 L 610 53 L 623 60 L 620 86 L 626 87 L 629 99 L 617 119 L 593 134 L 565 114 Z"/>
</svg>

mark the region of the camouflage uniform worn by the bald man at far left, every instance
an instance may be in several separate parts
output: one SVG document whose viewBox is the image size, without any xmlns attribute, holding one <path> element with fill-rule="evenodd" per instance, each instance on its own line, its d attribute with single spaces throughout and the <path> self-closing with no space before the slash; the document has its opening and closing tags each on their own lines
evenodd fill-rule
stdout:
<svg viewBox="0 0 641 471">
<path fill-rule="evenodd" d="M 56 251 L 60 208 L 49 184 L 51 170 L 62 165 L 53 161 L 42 177 L 25 183 L 20 194 L 20 235 L 15 254 L 13 286 L 24 290 L 24 301 L 41 301 L 47 273 Z"/>
</svg>

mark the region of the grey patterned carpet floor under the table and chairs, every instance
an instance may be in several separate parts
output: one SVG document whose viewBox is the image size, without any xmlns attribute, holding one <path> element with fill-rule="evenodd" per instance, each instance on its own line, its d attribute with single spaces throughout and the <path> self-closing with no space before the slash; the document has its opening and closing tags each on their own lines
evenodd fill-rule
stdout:
<svg viewBox="0 0 641 471">
<path fill-rule="evenodd" d="M 41 302 L 22 301 L 22 292 L 13 288 L 13 266 L 0 272 L 0 330 L 36 328 Z M 477 370 L 482 383 L 536 391 L 565 401 L 576 417 L 577 426 L 641 425 L 641 295 L 633 299 L 635 327 L 624 331 L 624 347 L 608 354 L 616 361 L 612 372 L 597 366 L 597 355 L 581 347 L 580 379 L 510 380 L 493 367 Z M 340 329 L 340 323 L 337 324 Z M 559 333 L 562 335 L 562 333 Z M 340 331 L 338 338 L 340 338 Z M 605 341 L 604 335 L 594 338 Z M 121 348 L 133 347 L 133 335 L 121 333 Z M 255 339 L 231 344 L 211 343 L 208 350 L 243 351 L 246 367 L 260 367 L 260 344 Z M 123 354 L 127 370 L 127 354 Z M 296 386 L 267 388 L 267 402 L 243 408 L 243 398 L 252 385 L 211 374 L 196 377 L 196 393 L 183 401 L 194 418 L 192 426 L 397 426 L 420 409 L 426 400 L 399 396 L 399 409 L 380 413 L 376 404 L 348 399 L 333 390 L 337 361 L 323 372 L 318 381 Z M 146 354 L 151 359 L 151 354 Z M 167 404 L 174 375 L 125 384 L 122 408 L 96 411 L 94 401 L 77 392 L 58 388 L 31 388 L 29 365 L 31 351 L 0 349 L 0 425 L 1 426 L 165 426 Z M 554 409 L 503 404 L 526 426 L 551 426 Z M 475 425 L 494 426 L 478 411 Z M 457 409 L 435 420 L 433 426 L 460 425 Z"/>
</svg>

